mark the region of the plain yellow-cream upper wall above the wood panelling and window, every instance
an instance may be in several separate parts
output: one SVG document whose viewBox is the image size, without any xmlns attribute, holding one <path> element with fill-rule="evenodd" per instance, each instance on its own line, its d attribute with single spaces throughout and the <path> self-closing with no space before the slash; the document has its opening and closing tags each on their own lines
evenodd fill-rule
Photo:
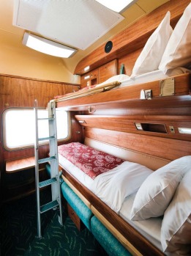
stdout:
<svg viewBox="0 0 191 256">
<path fill-rule="evenodd" d="M 63 59 L 42 54 L 22 45 L 22 36 L 0 29 L 0 73 L 73 84 L 80 77 L 73 75 Z M 21 46 L 20 46 L 21 45 Z"/>
</svg>

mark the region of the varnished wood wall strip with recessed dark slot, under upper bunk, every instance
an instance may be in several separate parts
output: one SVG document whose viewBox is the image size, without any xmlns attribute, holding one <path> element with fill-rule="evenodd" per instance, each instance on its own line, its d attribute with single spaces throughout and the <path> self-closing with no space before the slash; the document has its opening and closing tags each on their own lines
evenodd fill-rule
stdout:
<svg viewBox="0 0 191 256">
<path fill-rule="evenodd" d="M 141 115 L 75 115 L 75 118 L 83 127 L 102 128 L 113 131 L 123 131 L 132 134 L 142 134 L 147 136 L 158 136 L 163 138 L 181 139 L 191 141 L 190 134 L 180 134 L 180 127 L 191 128 L 190 116 L 141 116 Z M 149 123 L 154 125 L 164 125 L 166 133 L 160 131 L 139 131 L 135 123 Z M 171 126 L 174 128 L 174 133 L 171 132 Z"/>
</svg>

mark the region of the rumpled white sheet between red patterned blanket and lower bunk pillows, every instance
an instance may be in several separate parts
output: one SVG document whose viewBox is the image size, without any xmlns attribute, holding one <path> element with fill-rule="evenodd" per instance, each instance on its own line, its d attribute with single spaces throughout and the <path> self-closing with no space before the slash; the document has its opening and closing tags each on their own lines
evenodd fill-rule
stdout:
<svg viewBox="0 0 191 256">
<path fill-rule="evenodd" d="M 111 171 L 98 175 L 94 179 L 91 191 L 113 211 L 119 213 L 124 198 L 138 191 L 152 172 L 141 164 L 125 161 Z"/>
</svg>

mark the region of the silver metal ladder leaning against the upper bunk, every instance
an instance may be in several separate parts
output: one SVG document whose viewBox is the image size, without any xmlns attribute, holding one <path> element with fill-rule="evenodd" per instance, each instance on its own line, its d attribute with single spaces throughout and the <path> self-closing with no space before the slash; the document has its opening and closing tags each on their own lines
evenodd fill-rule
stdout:
<svg viewBox="0 0 191 256">
<path fill-rule="evenodd" d="M 35 156 L 35 183 L 36 183 L 36 198 L 37 198 L 37 236 L 42 238 L 41 235 L 41 213 L 49 211 L 50 209 L 58 209 L 59 223 L 62 226 L 61 214 L 61 191 L 59 180 L 59 161 L 58 161 L 58 147 L 57 147 L 57 133 L 56 133 L 56 106 L 55 102 L 51 100 L 48 103 L 48 118 L 38 118 L 37 100 L 34 100 L 34 113 L 35 113 L 35 128 L 36 138 L 34 144 Z M 38 122 L 48 120 L 49 136 L 39 138 L 38 136 Z M 39 142 L 49 140 L 50 156 L 48 158 L 39 159 Z M 50 163 L 50 179 L 39 181 L 39 165 L 43 163 Z M 40 189 L 45 186 L 51 185 L 52 201 L 45 205 L 40 205 Z"/>
</svg>

